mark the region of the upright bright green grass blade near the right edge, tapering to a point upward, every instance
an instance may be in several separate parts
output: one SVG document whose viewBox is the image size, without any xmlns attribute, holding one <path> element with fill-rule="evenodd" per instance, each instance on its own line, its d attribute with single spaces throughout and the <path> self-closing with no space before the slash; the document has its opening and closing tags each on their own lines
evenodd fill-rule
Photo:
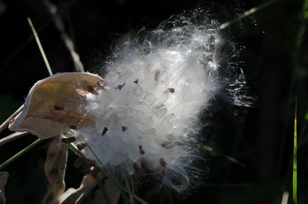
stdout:
<svg viewBox="0 0 308 204">
<path fill-rule="evenodd" d="M 297 204 L 297 101 L 295 99 L 294 144 L 293 144 L 293 203 Z"/>
</svg>

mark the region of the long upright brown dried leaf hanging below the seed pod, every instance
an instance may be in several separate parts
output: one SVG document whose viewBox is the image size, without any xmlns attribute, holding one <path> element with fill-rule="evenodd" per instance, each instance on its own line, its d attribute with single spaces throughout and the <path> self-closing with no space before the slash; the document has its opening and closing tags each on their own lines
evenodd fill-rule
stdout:
<svg viewBox="0 0 308 204">
<path fill-rule="evenodd" d="M 45 176 L 48 181 L 47 192 L 43 204 L 58 204 L 59 197 L 65 190 L 65 170 L 67 162 L 67 146 L 62 144 L 60 137 L 49 146 L 45 162 Z"/>
</svg>

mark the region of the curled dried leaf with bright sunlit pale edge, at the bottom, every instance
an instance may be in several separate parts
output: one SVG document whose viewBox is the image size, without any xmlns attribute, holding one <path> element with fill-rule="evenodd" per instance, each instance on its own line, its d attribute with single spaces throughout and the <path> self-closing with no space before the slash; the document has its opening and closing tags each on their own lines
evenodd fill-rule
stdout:
<svg viewBox="0 0 308 204">
<path fill-rule="evenodd" d="M 81 181 L 80 187 L 67 189 L 60 197 L 59 204 L 79 204 L 96 186 L 96 180 L 92 176 L 85 175 Z"/>
</svg>

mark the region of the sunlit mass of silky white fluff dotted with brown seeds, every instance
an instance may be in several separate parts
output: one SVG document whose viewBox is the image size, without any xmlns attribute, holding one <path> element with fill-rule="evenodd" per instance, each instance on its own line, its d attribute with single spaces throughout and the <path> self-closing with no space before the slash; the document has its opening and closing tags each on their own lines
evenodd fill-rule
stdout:
<svg viewBox="0 0 308 204">
<path fill-rule="evenodd" d="M 230 65 L 233 44 L 216 27 L 196 11 L 119 40 L 101 71 L 104 88 L 87 93 L 96 127 L 77 130 L 88 159 L 135 181 L 146 174 L 177 191 L 193 185 L 199 118 L 215 99 L 239 101 L 233 89 L 244 83 Z"/>
</svg>

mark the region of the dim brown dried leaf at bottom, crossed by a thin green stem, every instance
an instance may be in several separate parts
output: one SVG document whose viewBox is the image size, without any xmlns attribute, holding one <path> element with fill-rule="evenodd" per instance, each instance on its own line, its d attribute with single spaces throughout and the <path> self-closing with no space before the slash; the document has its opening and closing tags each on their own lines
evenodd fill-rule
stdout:
<svg viewBox="0 0 308 204">
<path fill-rule="evenodd" d="M 117 204 L 120 199 L 120 190 L 116 184 L 110 179 L 106 179 L 104 182 L 105 190 L 108 194 L 111 204 Z M 96 190 L 95 197 L 91 201 L 91 204 L 106 204 L 104 195 L 102 195 L 100 190 Z"/>
</svg>

